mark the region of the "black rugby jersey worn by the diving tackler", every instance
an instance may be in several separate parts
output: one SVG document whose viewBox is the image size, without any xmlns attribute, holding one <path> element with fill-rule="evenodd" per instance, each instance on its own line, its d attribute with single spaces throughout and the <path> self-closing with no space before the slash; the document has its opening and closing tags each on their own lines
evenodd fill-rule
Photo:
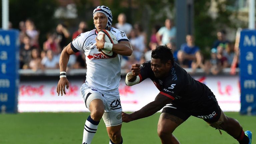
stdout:
<svg viewBox="0 0 256 144">
<path fill-rule="evenodd" d="M 185 107 L 190 105 L 188 107 L 191 107 L 191 104 L 201 105 L 205 100 L 211 99 L 208 97 L 209 94 L 213 95 L 205 84 L 193 79 L 177 63 L 174 63 L 168 76 L 160 79 L 155 77 L 150 61 L 141 64 L 140 70 L 140 82 L 150 78 L 159 89 L 160 94 L 172 99 L 172 103 L 183 104 Z"/>
</svg>

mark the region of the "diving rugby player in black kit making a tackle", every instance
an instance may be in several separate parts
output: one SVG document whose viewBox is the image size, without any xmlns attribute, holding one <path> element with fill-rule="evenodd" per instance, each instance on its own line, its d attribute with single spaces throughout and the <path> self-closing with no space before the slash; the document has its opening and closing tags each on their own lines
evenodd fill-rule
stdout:
<svg viewBox="0 0 256 144">
<path fill-rule="evenodd" d="M 223 113 L 212 91 L 175 63 L 172 50 L 166 45 L 152 51 L 151 61 L 133 64 L 131 70 L 126 75 L 126 85 L 132 86 L 150 78 L 160 92 L 153 102 L 140 110 L 122 113 L 123 122 L 151 116 L 163 108 L 157 128 L 162 144 L 179 144 L 172 133 L 191 115 L 219 131 L 226 131 L 239 144 L 251 144 L 252 133 L 244 132 L 236 119 Z"/>
</svg>

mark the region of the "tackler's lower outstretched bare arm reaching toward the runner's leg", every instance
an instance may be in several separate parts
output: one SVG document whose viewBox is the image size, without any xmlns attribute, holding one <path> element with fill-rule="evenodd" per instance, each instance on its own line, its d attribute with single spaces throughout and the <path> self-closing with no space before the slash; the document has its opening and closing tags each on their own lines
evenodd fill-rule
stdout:
<svg viewBox="0 0 256 144">
<path fill-rule="evenodd" d="M 153 102 L 147 104 L 140 110 L 131 114 L 126 114 L 122 112 L 123 122 L 130 122 L 130 121 L 151 116 L 157 111 L 159 111 L 160 109 L 162 109 L 166 104 L 170 103 L 171 101 L 172 99 L 159 93 Z"/>
</svg>

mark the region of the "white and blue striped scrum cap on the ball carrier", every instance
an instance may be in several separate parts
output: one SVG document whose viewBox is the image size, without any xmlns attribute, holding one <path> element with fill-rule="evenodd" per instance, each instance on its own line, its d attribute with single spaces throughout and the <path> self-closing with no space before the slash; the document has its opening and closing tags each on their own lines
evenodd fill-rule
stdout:
<svg viewBox="0 0 256 144">
<path fill-rule="evenodd" d="M 94 16 L 94 14 L 96 14 L 98 12 L 104 13 L 108 18 L 108 23 L 107 23 L 106 29 L 111 27 L 111 25 L 112 25 L 112 12 L 111 12 L 111 10 L 106 6 L 98 6 L 93 10 L 93 16 Z"/>
</svg>

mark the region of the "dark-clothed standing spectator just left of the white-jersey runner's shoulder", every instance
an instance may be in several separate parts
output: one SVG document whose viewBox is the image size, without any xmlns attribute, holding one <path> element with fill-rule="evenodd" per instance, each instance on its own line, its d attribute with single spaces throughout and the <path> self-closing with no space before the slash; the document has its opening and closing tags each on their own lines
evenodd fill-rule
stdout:
<svg viewBox="0 0 256 144">
<path fill-rule="evenodd" d="M 69 32 L 64 24 L 58 24 L 56 27 L 57 39 L 61 50 L 67 46 L 67 40 L 69 38 Z"/>
</svg>

